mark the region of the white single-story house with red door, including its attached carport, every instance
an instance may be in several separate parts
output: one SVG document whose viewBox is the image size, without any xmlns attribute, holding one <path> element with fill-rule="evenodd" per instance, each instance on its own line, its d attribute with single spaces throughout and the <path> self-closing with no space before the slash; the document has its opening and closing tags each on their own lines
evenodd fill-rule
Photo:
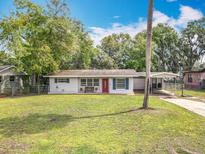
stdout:
<svg viewBox="0 0 205 154">
<path fill-rule="evenodd" d="M 49 94 L 109 93 L 132 94 L 145 87 L 145 72 L 134 69 L 63 70 L 49 78 Z M 151 72 L 151 88 L 163 89 L 165 78 L 178 75 L 168 72 Z"/>
</svg>

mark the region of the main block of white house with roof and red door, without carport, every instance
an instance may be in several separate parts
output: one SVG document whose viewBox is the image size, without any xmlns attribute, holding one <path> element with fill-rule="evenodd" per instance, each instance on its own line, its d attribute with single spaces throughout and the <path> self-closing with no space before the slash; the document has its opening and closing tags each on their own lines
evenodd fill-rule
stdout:
<svg viewBox="0 0 205 154">
<path fill-rule="evenodd" d="M 135 70 L 64 70 L 48 75 L 49 94 L 132 94 Z"/>
</svg>

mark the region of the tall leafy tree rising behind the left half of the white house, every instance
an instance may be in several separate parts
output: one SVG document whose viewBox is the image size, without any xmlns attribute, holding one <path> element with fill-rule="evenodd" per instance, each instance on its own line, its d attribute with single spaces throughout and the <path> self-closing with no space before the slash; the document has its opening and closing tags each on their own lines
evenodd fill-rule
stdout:
<svg viewBox="0 0 205 154">
<path fill-rule="evenodd" d="M 81 22 L 69 17 L 69 8 L 65 1 L 50 0 L 47 7 L 47 15 L 52 19 L 50 28 L 56 36 L 48 39 L 52 42 L 54 57 L 60 62 L 59 68 L 90 68 L 93 42 Z"/>
</svg>

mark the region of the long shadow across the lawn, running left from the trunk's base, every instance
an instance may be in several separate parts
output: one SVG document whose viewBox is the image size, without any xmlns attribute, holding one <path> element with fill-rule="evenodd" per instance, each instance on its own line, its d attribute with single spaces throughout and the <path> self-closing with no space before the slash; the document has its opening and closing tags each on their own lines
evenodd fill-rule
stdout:
<svg viewBox="0 0 205 154">
<path fill-rule="evenodd" d="M 68 123 L 89 118 L 100 118 L 107 116 L 117 116 L 124 113 L 135 112 L 141 110 L 132 109 L 117 113 L 109 113 L 102 115 L 91 115 L 82 117 L 73 117 L 71 115 L 60 115 L 60 114 L 30 114 L 25 117 L 9 117 L 0 119 L 0 134 L 6 137 L 21 134 L 36 134 L 46 132 L 52 129 L 58 129 L 66 126 Z"/>
</svg>

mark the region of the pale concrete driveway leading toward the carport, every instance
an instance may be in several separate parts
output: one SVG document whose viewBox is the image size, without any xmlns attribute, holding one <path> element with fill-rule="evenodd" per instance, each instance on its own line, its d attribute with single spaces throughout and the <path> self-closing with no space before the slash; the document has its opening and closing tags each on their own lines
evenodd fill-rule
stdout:
<svg viewBox="0 0 205 154">
<path fill-rule="evenodd" d="M 164 101 L 179 105 L 187 110 L 205 117 L 205 103 L 182 98 L 161 98 Z"/>
</svg>

